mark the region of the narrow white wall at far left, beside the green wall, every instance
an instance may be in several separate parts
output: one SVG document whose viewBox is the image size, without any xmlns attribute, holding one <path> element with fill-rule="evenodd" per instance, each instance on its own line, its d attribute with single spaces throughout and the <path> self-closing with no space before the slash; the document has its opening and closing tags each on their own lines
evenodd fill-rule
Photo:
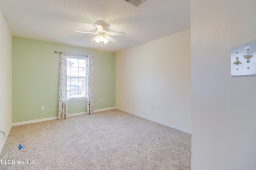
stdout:
<svg viewBox="0 0 256 170">
<path fill-rule="evenodd" d="M 8 135 L 12 126 L 12 35 L 0 11 L 0 131 Z M 0 133 L 0 153 L 4 147 Z"/>
</svg>

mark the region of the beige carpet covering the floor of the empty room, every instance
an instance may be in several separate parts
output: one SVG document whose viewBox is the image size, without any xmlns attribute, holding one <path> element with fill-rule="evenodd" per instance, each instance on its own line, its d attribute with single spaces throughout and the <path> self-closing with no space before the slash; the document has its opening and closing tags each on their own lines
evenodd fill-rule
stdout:
<svg viewBox="0 0 256 170">
<path fill-rule="evenodd" d="M 118 109 L 14 126 L 0 158 L 19 144 L 33 147 L 12 156 L 0 169 L 191 169 L 190 134 Z"/>
</svg>

